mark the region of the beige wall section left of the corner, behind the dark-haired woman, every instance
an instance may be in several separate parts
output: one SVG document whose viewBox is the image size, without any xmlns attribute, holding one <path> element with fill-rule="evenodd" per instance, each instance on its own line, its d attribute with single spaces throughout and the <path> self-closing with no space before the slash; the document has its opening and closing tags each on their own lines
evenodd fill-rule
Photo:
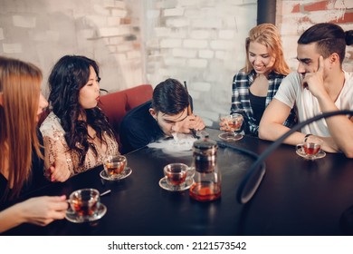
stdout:
<svg viewBox="0 0 353 254">
<path fill-rule="evenodd" d="M 129 9 L 136 1 L 127 2 L 0 0 L 0 54 L 37 64 L 44 84 L 64 54 L 98 61 L 110 91 L 144 83 L 139 20 Z"/>
</svg>

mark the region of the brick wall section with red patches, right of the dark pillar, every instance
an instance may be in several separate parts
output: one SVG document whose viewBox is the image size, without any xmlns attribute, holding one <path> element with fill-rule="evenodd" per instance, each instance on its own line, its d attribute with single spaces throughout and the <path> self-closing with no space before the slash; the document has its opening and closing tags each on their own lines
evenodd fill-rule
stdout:
<svg viewBox="0 0 353 254">
<path fill-rule="evenodd" d="M 277 25 L 281 28 L 284 55 L 293 71 L 298 62 L 296 47 L 299 36 L 312 24 L 330 22 L 345 31 L 353 30 L 353 1 L 277 1 Z M 353 46 L 347 46 L 343 68 L 353 71 Z"/>
</svg>

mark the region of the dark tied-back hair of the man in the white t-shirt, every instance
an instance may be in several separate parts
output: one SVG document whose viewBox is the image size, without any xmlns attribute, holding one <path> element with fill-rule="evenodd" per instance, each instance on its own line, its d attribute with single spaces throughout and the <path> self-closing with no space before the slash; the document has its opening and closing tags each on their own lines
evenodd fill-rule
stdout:
<svg viewBox="0 0 353 254">
<path fill-rule="evenodd" d="M 298 40 L 298 44 L 317 43 L 318 52 L 323 58 L 330 54 L 339 54 L 342 64 L 346 54 L 346 44 L 353 44 L 353 31 L 344 32 L 337 24 L 320 23 L 312 25 Z"/>
</svg>

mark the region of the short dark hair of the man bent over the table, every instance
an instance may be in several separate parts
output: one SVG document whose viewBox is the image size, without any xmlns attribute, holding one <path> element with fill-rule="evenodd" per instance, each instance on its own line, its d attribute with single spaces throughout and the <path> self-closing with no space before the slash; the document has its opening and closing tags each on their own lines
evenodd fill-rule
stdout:
<svg viewBox="0 0 353 254">
<path fill-rule="evenodd" d="M 189 105 L 186 88 L 175 79 L 158 83 L 153 91 L 152 107 L 156 112 L 176 114 Z"/>
</svg>

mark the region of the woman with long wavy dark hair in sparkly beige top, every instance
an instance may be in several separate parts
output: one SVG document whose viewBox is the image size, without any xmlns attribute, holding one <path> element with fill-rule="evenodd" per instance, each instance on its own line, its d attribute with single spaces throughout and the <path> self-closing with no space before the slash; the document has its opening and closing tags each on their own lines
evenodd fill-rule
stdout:
<svg viewBox="0 0 353 254">
<path fill-rule="evenodd" d="M 118 143 L 100 100 L 98 64 L 80 55 L 65 55 L 49 76 L 52 112 L 40 130 L 45 146 L 45 168 L 51 181 L 103 163 L 106 154 L 119 154 Z M 51 166 L 55 166 L 51 168 Z"/>
</svg>

